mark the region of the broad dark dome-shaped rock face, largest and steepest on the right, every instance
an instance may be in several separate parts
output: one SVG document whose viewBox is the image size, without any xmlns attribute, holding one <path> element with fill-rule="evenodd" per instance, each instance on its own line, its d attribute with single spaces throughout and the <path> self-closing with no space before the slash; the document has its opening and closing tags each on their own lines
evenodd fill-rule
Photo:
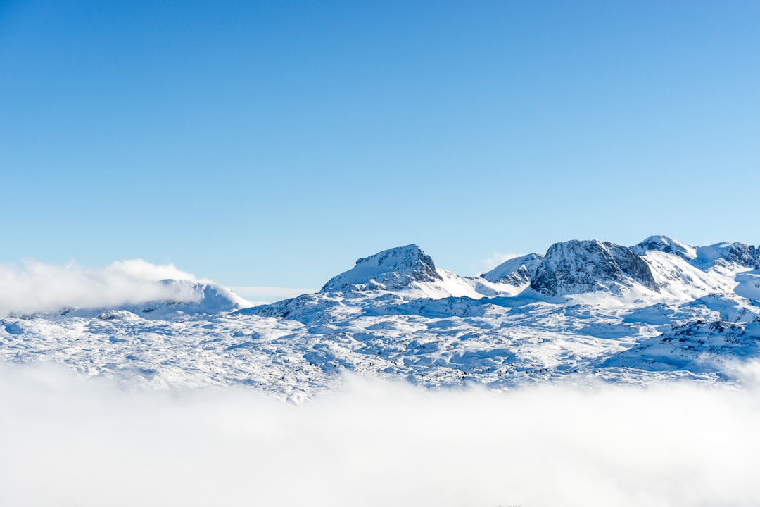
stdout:
<svg viewBox="0 0 760 507">
<path fill-rule="evenodd" d="M 581 294 L 600 290 L 619 293 L 641 284 L 659 291 L 644 259 L 612 242 L 568 241 L 549 247 L 530 287 L 546 296 Z"/>
</svg>

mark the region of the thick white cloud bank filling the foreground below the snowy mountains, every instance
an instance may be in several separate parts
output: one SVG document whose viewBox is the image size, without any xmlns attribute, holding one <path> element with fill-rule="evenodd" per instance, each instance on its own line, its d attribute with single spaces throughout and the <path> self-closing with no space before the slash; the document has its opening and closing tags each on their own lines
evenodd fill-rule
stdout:
<svg viewBox="0 0 760 507">
<path fill-rule="evenodd" d="M 755 393 L 118 391 L 0 367 L 2 505 L 757 505 Z"/>
</svg>

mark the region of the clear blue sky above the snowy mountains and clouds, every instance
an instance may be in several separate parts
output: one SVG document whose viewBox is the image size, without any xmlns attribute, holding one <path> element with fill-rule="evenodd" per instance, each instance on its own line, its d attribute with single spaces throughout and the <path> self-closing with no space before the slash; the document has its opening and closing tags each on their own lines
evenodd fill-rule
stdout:
<svg viewBox="0 0 760 507">
<path fill-rule="evenodd" d="M 760 2 L 0 0 L 0 261 L 320 287 L 757 244 Z"/>
</svg>

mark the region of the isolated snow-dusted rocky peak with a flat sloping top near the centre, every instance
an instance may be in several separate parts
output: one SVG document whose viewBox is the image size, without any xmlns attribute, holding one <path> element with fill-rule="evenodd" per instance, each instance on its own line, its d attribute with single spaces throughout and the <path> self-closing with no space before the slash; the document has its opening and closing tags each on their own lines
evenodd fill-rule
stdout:
<svg viewBox="0 0 760 507">
<path fill-rule="evenodd" d="M 401 290 L 413 282 L 442 280 L 429 255 L 416 245 L 399 246 L 369 257 L 360 258 L 356 266 L 337 275 L 321 292 L 336 290 Z"/>
</svg>

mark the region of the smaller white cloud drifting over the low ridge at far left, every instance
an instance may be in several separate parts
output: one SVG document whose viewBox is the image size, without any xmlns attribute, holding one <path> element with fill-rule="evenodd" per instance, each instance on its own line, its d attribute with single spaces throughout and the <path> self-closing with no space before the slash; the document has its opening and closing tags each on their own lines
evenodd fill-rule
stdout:
<svg viewBox="0 0 760 507">
<path fill-rule="evenodd" d="M 21 267 L 0 265 L 0 317 L 71 306 L 100 308 L 162 299 L 192 300 L 189 287 L 157 283 L 167 278 L 195 280 L 173 265 L 154 265 L 141 259 L 114 262 L 106 268 L 40 261 L 24 261 Z"/>
</svg>

